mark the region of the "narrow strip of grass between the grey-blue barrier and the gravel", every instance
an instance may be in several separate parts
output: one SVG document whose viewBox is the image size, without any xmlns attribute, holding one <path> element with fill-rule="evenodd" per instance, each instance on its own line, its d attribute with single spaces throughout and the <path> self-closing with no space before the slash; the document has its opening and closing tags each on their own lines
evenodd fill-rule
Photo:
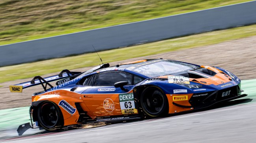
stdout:
<svg viewBox="0 0 256 143">
<path fill-rule="evenodd" d="M 256 25 L 250 25 L 173 38 L 143 45 L 101 51 L 98 53 L 102 60 L 105 63 L 108 63 L 140 56 L 148 56 L 181 49 L 212 45 L 255 35 Z M 33 63 L 0 67 L 0 83 L 24 78 L 32 78 L 33 76 L 53 72 L 60 72 L 63 69 L 78 69 L 82 67 L 95 66 L 99 65 L 99 63 L 101 62 L 96 53 L 88 53 L 78 56 L 69 56 L 65 58 L 56 58 Z"/>
</svg>

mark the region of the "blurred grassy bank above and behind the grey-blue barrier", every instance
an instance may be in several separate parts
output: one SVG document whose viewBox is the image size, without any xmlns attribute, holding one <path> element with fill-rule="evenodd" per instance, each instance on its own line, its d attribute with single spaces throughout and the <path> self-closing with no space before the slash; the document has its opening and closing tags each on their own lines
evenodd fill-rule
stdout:
<svg viewBox="0 0 256 143">
<path fill-rule="evenodd" d="M 0 45 L 250 0 L 1 0 Z"/>
</svg>

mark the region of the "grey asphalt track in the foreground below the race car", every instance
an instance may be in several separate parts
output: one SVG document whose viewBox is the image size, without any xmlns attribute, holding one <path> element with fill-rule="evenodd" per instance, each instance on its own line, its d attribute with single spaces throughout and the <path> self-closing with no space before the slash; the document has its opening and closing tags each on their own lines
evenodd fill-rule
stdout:
<svg viewBox="0 0 256 143">
<path fill-rule="evenodd" d="M 47 141 L 53 143 L 255 143 L 256 89 L 255 82 L 251 81 L 255 80 L 243 81 L 243 83 L 253 83 L 245 88 L 242 87 L 245 93 L 249 94 L 248 96 L 198 112 L 95 128 L 45 134 L 30 133 L 20 138 L 0 141 L 10 143 Z"/>
</svg>

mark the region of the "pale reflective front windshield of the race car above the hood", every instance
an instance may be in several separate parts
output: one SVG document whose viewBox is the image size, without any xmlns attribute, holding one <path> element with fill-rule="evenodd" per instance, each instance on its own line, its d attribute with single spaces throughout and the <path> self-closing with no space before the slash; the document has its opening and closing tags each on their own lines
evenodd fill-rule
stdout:
<svg viewBox="0 0 256 143">
<path fill-rule="evenodd" d="M 185 72 L 192 69 L 197 69 L 195 65 L 183 63 L 178 61 L 165 60 L 161 62 L 154 62 L 149 64 L 141 64 L 129 67 L 131 71 L 144 74 L 149 77 L 158 77 L 164 75 L 175 74 L 178 72 Z"/>
</svg>

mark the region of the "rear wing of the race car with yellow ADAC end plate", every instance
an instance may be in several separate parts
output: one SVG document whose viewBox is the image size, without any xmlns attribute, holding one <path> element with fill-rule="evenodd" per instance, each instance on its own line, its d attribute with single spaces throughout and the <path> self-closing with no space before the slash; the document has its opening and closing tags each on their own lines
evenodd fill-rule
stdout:
<svg viewBox="0 0 256 143">
<path fill-rule="evenodd" d="M 19 83 L 19 84 L 16 84 L 16 85 L 9 85 L 9 89 L 10 89 L 11 92 L 22 92 L 23 89 L 41 84 L 43 89 L 45 91 L 47 91 L 47 85 L 50 88 L 53 87 L 49 82 L 56 81 L 56 80 L 61 80 L 61 79 L 64 79 L 64 78 L 65 79 L 66 78 L 71 78 L 69 80 L 73 80 L 74 78 L 76 78 L 80 74 L 82 74 L 82 72 L 71 72 L 67 69 L 64 69 L 62 72 L 60 72 L 60 74 L 55 75 L 55 76 L 49 76 L 49 77 L 46 77 L 46 78 L 42 78 L 41 76 L 35 76 L 31 81 Z"/>
</svg>

